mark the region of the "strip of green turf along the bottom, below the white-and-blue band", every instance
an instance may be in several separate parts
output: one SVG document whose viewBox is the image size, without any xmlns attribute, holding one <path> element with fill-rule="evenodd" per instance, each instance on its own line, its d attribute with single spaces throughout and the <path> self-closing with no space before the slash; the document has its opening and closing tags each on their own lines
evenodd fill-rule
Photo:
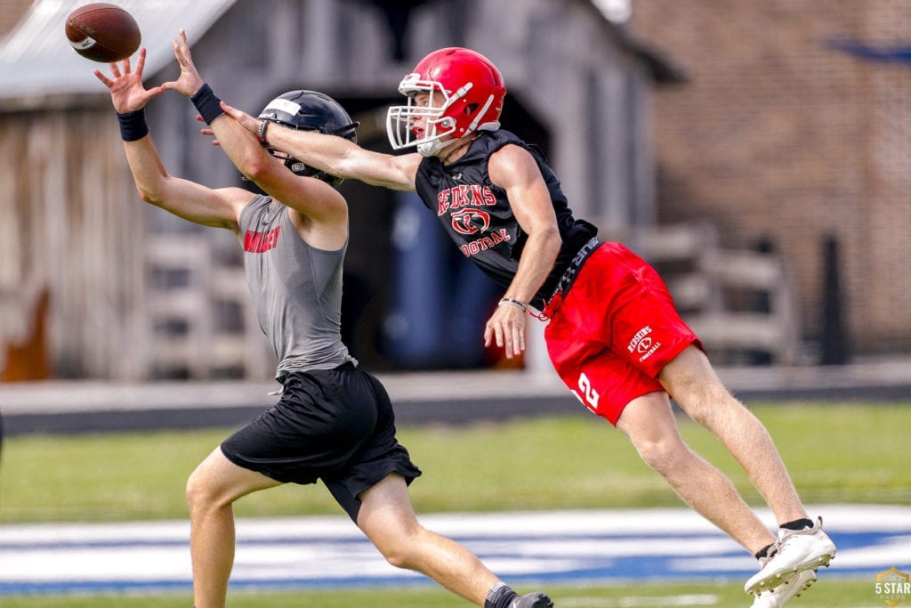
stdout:
<svg viewBox="0 0 911 608">
<path fill-rule="evenodd" d="M 833 581 L 825 573 L 789 608 L 869 608 L 885 606 L 875 581 Z M 526 592 L 530 589 L 519 589 Z M 637 584 L 598 587 L 548 587 L 557 608 L 615 608 L 618 606 L 748 606 L 742 583 Z M 429 585 L 404 589 L 345 590 L 307 593 L 231 593 L 231 608 L 466 608 L 471 603 Z M 34 596 L 4 597 L 4 608 L 187 608 L 189 595 Z"/>
</svg>

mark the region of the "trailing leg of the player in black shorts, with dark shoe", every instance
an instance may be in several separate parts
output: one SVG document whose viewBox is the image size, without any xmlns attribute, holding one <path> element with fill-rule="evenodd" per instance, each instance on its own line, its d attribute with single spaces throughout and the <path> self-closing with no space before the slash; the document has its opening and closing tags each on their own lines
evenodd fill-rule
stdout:
<svg viewBox="0 0 911 608">
<path fill-rule="evenodd" d="M 415 517 L 408 487 L 397 474 L 360 495 L 357 525 L 387 562 L 422 572 L 449 591 L 489 608 L 549 608 L 543 593 L 517 597 L 463 545 L 425 529 Z M 488 597 L 493 591 L 496 597 Z M 486 603 L 491 600 L 490 603 Z"/>
</svg>

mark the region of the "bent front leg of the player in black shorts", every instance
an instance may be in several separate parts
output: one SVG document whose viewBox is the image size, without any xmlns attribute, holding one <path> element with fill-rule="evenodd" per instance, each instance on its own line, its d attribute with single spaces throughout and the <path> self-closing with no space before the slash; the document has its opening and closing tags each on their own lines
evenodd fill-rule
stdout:
<svg viewBox="0 0 911 608">
<path fill-rule="evenodd" d="M 226 459 L 221 448 L 193 471 L 187 482 L 195 608 L 223 608 L 234 564 L 232 503 L 245 494 L 281 485 Z"/>
</svg>

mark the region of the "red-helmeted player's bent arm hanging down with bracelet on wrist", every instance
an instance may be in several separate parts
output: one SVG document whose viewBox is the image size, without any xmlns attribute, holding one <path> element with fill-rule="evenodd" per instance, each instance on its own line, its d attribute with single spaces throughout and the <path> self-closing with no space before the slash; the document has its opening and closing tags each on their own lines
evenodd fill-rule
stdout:
<svg viewBox="0 0 911 608">
<path fill-rule="evenodd" d="M 561 244 L 557 217 L 537 162 L 526 149 L 509 145 L 498 150 L 487 170 L 490 180 L 507 191 L 513 214 L 528 235 L 516 276 L 503 297 L 527 304 L 557 260 Z M 487 321 L 484 341 L 486 346 L 505 347 L 511 358 L 525 350 L 525 311 L 508 300 Z"/>
</svg>

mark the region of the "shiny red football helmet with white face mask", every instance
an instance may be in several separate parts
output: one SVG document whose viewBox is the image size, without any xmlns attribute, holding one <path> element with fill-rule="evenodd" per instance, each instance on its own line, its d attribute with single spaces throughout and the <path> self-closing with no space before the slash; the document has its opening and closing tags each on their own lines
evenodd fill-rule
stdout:
<svg viewBox="0 0 911 608">
<path fill-rule="evenodd" d="M 457 46 L 434 51 L 402 79 L 399 93 L 407 106 L 393 106 L 386 114 L 386 133 L 393 149 L 416 146 L 433 156 L 451 139 L 476 130 L 500 128 L 507 88 L 489 59 Z M 418 100 L 418 95 L 426 94 Z M 445 141 L 441 139 L 450 138 Z"/>
</svg>

